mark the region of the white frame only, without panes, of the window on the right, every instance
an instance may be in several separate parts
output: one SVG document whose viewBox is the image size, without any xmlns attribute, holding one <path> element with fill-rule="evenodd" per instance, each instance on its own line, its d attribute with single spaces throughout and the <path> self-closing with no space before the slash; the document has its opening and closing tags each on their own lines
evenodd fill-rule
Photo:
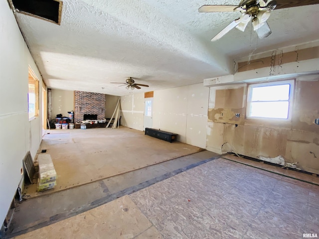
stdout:
<svg viewBox="0 0 319 239">
<path fill-rule="evenodd" d="M 257 87 L 264 87 L 264 86 L 279 86 L 279 85 L 290 85 L 289 88 L 289 100 L 288 100 L 288 117 L 287 119 L 282 118 L 268 118 L 268 117 L 253 117 L 250 116 L 250 106 L 251 106 L 251 98 L 252 98 L 252 91 L 253 88 Z M 248 84 L 248 91 L 247 91 L 247 101 L 246 101 L 246 119 L 269 119 L 269 120 L 283 120 L 288 121 L 292 119 L 292 109 L 294 103 L 294 89 L 295 89 L 295 79 L 288 79 L 288 80 L 279 80 L 279 81 L 268 81 L 268 82 L 261 82 L 261 83 L 252 83 Z M 261 101 L 262 102 L 262 101 Z"/>
</svg>

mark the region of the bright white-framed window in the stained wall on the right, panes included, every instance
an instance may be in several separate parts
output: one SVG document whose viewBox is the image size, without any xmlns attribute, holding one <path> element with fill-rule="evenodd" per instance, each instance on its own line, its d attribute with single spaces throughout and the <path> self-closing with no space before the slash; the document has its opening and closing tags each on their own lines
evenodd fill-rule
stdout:
<svg viewBox="0 0 319 239">
<path fill-rule="evenodd" d="M 247 117 L 290 119 L 294 80 L 251 84 Z"/>
</svg>

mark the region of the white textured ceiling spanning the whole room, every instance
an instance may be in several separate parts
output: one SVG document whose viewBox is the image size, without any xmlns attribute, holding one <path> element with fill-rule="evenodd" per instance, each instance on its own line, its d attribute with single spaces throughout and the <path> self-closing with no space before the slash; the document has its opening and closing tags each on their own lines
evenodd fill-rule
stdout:
<svg viewBox="0 0 319 239">
<path fill-rule="evenodd" d="M 280 1 L 280 0 L 278 0 Z M 263 40 L 233 29 L 210 39 L 238 12 L 199 13 L 203 4 L 239 0 L 64 0 L 61 25 L 16 13 L 48 88 L 128 95 L 125 82 L 155 91 L 229 75 L 233 59 L 319 39 L 319 4 L 275 9 Z"/>
</svg>

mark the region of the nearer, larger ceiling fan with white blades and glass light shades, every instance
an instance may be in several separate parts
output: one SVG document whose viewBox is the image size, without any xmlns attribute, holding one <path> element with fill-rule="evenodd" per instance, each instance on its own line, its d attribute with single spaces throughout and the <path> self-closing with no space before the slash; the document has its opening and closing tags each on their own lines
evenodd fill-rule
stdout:
<svg viewBox="0 0 319 239">
<path fill-rule="evenodd" d="M 232 21 L 228 26 L 221 30 L 211 41 L 217 41 L 231 29 L 236 27 L 241 31 L 249 21 L 252 22 L 254 31 L 260 39 L 266 38 L 271 34 L 267 19 L 270 12 L 275 9 L 288 8 L 294 6 L 303 6 L 318 4 L 319 0 L 241 0 L 239 5 L 203 5 L 199 7 L 199 12 L 224 12 L 239 11 L 241 16 Z"/>
</svg>

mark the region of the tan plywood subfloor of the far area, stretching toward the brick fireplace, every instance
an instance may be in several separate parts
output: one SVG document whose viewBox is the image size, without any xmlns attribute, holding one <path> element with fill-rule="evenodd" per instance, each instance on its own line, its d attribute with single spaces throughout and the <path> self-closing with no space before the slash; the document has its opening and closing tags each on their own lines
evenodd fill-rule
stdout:
<svg viewBox="0 0 319 239">
<path fill-rule="evenodd" d="M 25 198 L 109 178 L 202 149 L 181 142 L 169 143 L 144 132 L 120 127 L 50 130 L 39 152 L 46 149 L 58 174 L 54 189 L 36 191 L 36 183 L 24 190 Z"/>
</svg>

